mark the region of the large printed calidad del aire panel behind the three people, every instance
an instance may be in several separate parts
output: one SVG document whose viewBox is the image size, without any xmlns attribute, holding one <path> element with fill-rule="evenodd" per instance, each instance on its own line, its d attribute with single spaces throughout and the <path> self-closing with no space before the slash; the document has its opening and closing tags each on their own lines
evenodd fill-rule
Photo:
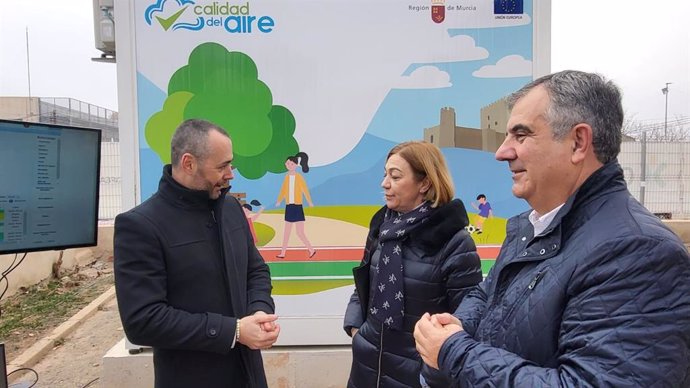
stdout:
<svg viewBox="0 0 690 388">
<path fill-rule="evenodd" d="M 441 147 L 485 271 L 493 264 L 506 219 L 526 209 L 494 152 L 504 97 L 535 67 L 531 0 L 134 3 L 141 199 L 155 192 L 179 123 L 225 128 L 232 192 L 247 204 L 282 316 L 342 316 L 383 205 L 385 156 L 402 141 Z M 308 171 L 286 163 L 295 156 Z M 295 196 L 303 223 L 286 221 Z"/>
</svg>

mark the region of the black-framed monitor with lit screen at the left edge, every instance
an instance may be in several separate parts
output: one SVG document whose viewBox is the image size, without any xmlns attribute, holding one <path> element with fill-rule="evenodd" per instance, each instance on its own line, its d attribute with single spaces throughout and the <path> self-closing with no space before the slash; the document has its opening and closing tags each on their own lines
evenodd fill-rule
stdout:
<svg viewBox="0 0 690 388">
<path fill-rule="evenodd" d="M 101 131 L 0 120 L 0 254 L 94 246 Z"/>
</svg>

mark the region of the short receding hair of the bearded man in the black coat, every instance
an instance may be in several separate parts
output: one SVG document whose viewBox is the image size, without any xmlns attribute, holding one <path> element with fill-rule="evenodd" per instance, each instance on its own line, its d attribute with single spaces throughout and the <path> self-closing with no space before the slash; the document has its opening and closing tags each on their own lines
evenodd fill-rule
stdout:
<svg viewBox="0 0 690 388">
<path fill-rule="evenodd" d="M 208 156 L 208 134 L 216 131 L 230 137 L 225 130 L 210 121 L 189 119 L 180 124 L 170 141 L 170 163 L 176 166 L 182 160 L 182 155 L 190 153 L 200 160 Z"/>
</svg>

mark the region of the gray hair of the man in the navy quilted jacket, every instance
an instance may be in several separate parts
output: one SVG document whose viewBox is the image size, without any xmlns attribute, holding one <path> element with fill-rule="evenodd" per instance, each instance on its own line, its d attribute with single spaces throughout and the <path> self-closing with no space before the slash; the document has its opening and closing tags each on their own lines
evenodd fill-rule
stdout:
<svg viewBox="0 0 690 388">
<path fill-rule="evenodd" d="M 508 97 L 508 107 L 537 86 L 549 94 L 546 121 L 556 140 L 561 140 L 573 126 L 592 127 L 594 154 L 601 163 L 614 160 L 623 138 L 623 105 L 620 89 L 612 81 L 594 73 L 565 70 L 538 78 Z"/>
</svg>

